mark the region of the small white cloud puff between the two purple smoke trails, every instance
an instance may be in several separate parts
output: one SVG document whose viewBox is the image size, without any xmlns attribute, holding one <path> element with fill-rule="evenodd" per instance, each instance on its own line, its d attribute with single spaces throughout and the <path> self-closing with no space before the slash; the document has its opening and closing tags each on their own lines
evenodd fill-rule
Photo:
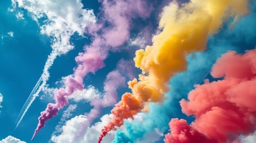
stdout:
<svg viewBox="0 0 256 143">
<path fill-rule="evenodd" d="M 100 92 L 95 89 L 94 86 L 88 86 L 87 89 L 82 91 L 75 91 L 72 95 L 69 96 L 69 99 L 79 102 L 79 101 L 91 101 L 97 98 L 100 98 Z"/>
</svg>

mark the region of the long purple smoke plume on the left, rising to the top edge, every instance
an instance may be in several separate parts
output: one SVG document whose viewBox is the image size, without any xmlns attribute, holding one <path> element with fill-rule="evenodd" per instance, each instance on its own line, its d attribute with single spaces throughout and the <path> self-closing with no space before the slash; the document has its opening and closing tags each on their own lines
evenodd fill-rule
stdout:
<svg viewBox="0 0 256 143">
<path fill-rule="evenodd" d="M 41 112 L 38 127 L 33 137 L 45 126 L 45 122 L 57 115 L 58 110 L 69 104 L 67 96 L 76 90 L 84 89 L 83 78 L 88 73 L 95 73 L 101 69 L 108 52 L 117 51 L 129 38 L 130 22 L 132 18 L 149 17 L 151 7 L 146 1 L 107 1 L 103 0 L 102 15 L 98 23 L 91 24 L 86 30 L 93 36 L 90 46 L 85 47 L 84 53 L 76 57 L 74 74 L 67 77 L 65 87 L 54 93 L 55 104 L 48 104 L 45 111 Z M 105 27 L 106 25 L 109 25 Z M 91 111 L 92 112 L 92 111 Z M 95 113 L 98 114 L 98 113 Z M 93 115 L 94 116 L 94 115 Z"/>
</svg>

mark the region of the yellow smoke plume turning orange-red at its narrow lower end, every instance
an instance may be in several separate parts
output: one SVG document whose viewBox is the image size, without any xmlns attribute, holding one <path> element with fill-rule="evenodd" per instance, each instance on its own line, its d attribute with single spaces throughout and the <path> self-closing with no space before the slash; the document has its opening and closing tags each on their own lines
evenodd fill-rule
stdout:
<svg viewBox="0 0 256 143">
<path fill-rule="evenodd" d="M 113 121 L 102 129 L 98 142 L 107 132 L 123 125 L 125 119 L 147 111 L 147 102 L 163 101 L 169 79 L 186 70 L 186 55 L 205 49 L 208 36 L 218 32 L 228 18 L 245 15 L 247 7 L 248 1 L 242 0 L 193 0 L 181 7 L 177 2 L 165 7 L 159 22 L 162 32 L 153 38 L 152 46 L 136 52 L 135 66 L 143 72 L 139 79 L 128 83 L 132 94 L 124 94 L 125 98 L 113 108 Z M 128 107 L 129 99 L 138 105 Z"/>
</svg>

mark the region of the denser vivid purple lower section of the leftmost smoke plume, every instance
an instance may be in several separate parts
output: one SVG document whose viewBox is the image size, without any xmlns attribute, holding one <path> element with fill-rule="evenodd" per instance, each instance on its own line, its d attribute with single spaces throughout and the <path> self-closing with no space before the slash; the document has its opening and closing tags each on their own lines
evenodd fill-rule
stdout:
<svg viewBox="0 0 256 143">
<path fill-rule="evenodd" d="M 41 116 L 38 118 L 39 123 L 35 130 L 32 139 L 36 133 L 45 126 L 45 122 L 51 119 L 53 116 L 57 116 L 58 110 L 68 105 L 66 96 L 73 94 L 76 90 L 84 89 L 83 78 L 88 73 L 95 73 L 96 70 L 102 68 L 103 57 L 98 54 L 95 49 L 88 48 L 84 54 L 79 54 L 76 57 L 76 62 L 79 63 L 75 69 L 74 76 L 68 76 L 65 82 L 66 88 L 60 88 L 54 93 L 55 104 L 48 104 L 45 111 L 41 112 Z"/>
</svg>

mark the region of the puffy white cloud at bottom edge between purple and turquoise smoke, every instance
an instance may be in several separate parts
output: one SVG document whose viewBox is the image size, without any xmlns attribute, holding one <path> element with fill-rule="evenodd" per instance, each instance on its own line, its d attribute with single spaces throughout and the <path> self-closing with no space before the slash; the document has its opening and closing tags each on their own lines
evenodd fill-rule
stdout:
<svg viewBox="0 0 256 143">
<path fill-rule="evenodd" d="M 87 117 L 84 115 L 76 116 L 73 119 L 66 122 L 66 125 L 63 126 L 63 132 L 59 136 L 53 136 L 51 140 L 57 143 L 69 143 L 72 142 L 73 139 L 77 139 L 75 142 L 90 142 L 97 143 L 97 138 L 100 136 L 101 129 L 107 125 L 110 120 L 112 120 L 112 115 L 104 115 L 101 117 L 101 122 L 95 123 L 94 126 L 87 128 L 85 132 L 82 132 L 82 138 L 76 138 L 79 130 L 82 128 L 82 124 L 87 122 Z M 105 138 L 103 138 L 103 143 L 109 143 L 113 141 L 115 137 L 115 132 L 110 132 Z"/>
</svg>

